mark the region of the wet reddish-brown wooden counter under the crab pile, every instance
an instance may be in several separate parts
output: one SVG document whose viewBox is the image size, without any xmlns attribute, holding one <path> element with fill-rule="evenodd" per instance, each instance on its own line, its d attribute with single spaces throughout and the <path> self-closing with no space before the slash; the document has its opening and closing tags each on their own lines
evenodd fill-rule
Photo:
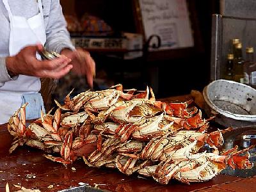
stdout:
<svg viewBox="0 0 256 192">
<path fill-rule="evenodd" d="M 175 101 L 175 99 L 169 100 Z M 72 165 L 64 166 L 43 157 L 43 151 L 27 146 L 17 148 L 10 155 L 8 150 L 11 147 L 12 136 L 6 127 L 6 124 L 0 125 L 0 191 L 5 191 L 6 182 L 11 191 L 18 190 L 13 184 L 40 191 L 60 191 L 81 185 L 122 192 L 246 191 L 246 189 L 256 191 L 256 177 L 244 179 L 218 175 L 207 182 L 188 185 L 173 179 L 168 185 L 162 185 L 152 178 L 127 176 L 110 168 L 90 168 L 82 159 L 77 159 Z"/>
</svg>

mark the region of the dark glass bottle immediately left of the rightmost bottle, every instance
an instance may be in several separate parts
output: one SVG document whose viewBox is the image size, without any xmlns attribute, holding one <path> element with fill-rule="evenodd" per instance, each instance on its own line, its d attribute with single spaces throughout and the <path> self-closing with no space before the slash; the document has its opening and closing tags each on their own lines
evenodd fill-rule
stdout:
<svg viewBox="0 0 256 192">
<path fill-rule="evenodd" d="M 234 52 L 234 81 L 239 83 L 244 83 L 243 63 L 242 44 L 239 42 Z"/>
</svg>

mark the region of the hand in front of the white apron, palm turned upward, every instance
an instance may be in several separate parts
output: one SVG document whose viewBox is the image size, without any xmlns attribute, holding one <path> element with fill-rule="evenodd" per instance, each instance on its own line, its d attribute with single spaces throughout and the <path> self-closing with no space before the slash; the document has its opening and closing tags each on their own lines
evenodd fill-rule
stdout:
<svg viewBox="0 0 256 192">
<path fill-rule="evenodd" d="M 72 65 L 66 56 L 60 56 L 54 60 L 39 61 L 36 59 L 36 51 L 42 51 L 42 45 L 29 45 L 20 50 L 15 56 L 6 58 L 6 68 L 13 76 L 26 75 L 36 77 L 49 77 L 60 79 L 65 76 Z"/>
</svg>

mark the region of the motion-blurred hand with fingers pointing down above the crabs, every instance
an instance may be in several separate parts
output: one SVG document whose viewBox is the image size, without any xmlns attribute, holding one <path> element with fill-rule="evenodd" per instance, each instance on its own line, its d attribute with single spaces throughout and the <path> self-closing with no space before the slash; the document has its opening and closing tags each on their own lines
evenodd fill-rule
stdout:
<svg viewBox="0 0 256 192">
<path fill-rule="evenodd" d="M 88 85 L 92 88 L 93 77 L 95 76 L 95 61 L 90 56 L 90 53 L 88 51 L 84 51 L 81 48 L 77 48 L 76 51 L 63 49 L 61 54 L 72 60 L 72 71 L 79 76 L 85 75 Z"/>
</svg>

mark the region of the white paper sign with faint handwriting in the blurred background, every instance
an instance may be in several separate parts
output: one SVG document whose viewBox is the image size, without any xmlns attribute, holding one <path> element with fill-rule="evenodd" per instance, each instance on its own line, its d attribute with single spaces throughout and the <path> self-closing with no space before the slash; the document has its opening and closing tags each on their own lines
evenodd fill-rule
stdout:
<svg viewBox="0 0 256 192">
<path fill-rule="evenodd" d="M 186 0 L 139 1 L 145 37 L 148 39 L 151 35 L 158 35 L 161 38 L 159 49 L 194 46 Z"/>
</svg>

